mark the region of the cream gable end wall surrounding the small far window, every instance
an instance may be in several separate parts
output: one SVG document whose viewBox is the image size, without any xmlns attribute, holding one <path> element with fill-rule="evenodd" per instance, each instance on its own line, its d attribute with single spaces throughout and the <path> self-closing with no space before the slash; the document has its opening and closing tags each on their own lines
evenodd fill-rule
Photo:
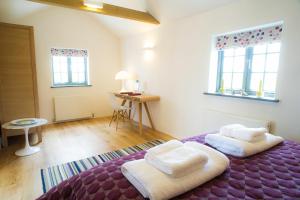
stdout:
<svg viewBox="0 0 300 200">
<path fill-rule="evenodd" d="M 90 14 L 50 7 L 21 19 L 5 22 L 34 26 L 38 93 L 41 117 L 54 117 L 53 97 L 82 95 L 90 100 L 96 117 L 112 113 L 108 92 L 119 89 L 114 75 L 121 68 L 120 40 Z M 91 87 L 50 88 L 50 48 L 87 49 Z M 86 105 L 84 105 L 86 106 Z"/>
</svg>

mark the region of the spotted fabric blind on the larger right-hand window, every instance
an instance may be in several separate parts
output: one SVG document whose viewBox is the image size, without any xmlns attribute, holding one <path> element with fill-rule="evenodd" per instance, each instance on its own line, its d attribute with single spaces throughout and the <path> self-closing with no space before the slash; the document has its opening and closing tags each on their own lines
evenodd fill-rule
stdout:
<svg viewBox="0 0 300 200">
<path fill-rule="evenodd" d="M 233 47 L 247 47 L 261 43 L 280 41 L 282 24 L 238 32 L 228 35 L 220 35 L 216 38 L 216 49 L 222 50 Z"/>
</svg>

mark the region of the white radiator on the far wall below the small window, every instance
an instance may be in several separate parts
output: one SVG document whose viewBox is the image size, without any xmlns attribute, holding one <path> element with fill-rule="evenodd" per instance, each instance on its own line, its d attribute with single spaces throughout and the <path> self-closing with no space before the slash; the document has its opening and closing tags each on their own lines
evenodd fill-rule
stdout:
<svg viewBox="0 0 300 200">
<path fill-rule="evenodd" d="M 91 118 L 91 103 L 84 96 L 54 97 L 55 122 Z"/>
</svg>

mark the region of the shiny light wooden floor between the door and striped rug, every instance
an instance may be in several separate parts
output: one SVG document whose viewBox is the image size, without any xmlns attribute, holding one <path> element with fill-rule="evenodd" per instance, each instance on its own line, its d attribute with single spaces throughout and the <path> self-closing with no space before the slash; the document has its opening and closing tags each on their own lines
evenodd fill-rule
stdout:
<svg viewBox="0 0 300 200">
<path fill-rule="evenodd" d="M 35 199 L 42 194 L 40 169 L 108 151 L 145 143 L 154 139 L 171 139 L 170 136 L 121 123 L 108 126 L 109 119 L 91 119 L 48 125 L 43 129 L 41 151 L 27 157 L 14 152 L 24 145 L 24 136 L 12 137 L 9 147 L 0 150 L 0 199 Z M 35 137 L 31 138 L 34 142 Z"/>
</svg>

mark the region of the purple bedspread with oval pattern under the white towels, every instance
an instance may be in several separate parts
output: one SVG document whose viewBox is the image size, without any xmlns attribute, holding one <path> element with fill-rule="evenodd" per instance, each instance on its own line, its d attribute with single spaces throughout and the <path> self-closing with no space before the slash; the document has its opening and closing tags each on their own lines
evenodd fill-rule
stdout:
<svg viewBox="0 0 300 200">
<path fill-rule="evenodd" d="M 184 141 L 204 143 L 204 135 Z M 142 151 L 94 167 L 62 182 L 39 199 L 143 199 L 120 167 L 144 154 Z M 228 157 L 230 168 L 222 175 L 175 199 L 300 199 L 300 144 L 284 141 L 248 158 Z"/>
</svg>

